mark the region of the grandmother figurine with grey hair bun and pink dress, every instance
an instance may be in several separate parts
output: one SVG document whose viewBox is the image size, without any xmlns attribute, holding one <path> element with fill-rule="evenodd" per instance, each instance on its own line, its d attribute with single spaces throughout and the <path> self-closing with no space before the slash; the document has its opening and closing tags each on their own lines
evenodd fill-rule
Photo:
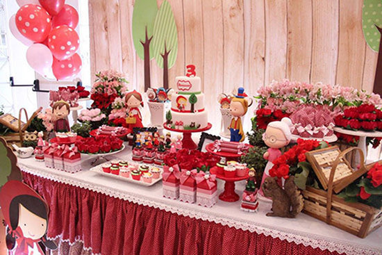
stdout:
<svg viewBox="0 0 382 255">
<path fill-rule="evenodd" d="M 269 177 L 269 170 L 274 165 L 272 162 L 281 156 L 280 149 L 289 144 L 290 139 L 292 138 L 292 133 L 290 132 L 291 127 L 292 121 L 288 117 L 283 117 L 281 121 L 270 122 L 267 125 L 267 129 L 265 129 L 265 133 L 263 133 L 263 141 L 269 149 L 267 149 L 263 157 L 268 163 L 265 166 L 260 187 L 263 186 L 265 179 Z M 277 183 L 279 183 L 281 188 L 283 187 L 282 179 L 277 179 Z M 258 192 L 260 195 L 264 196 L 262 189 L 259 189 Z"/>
</svg>

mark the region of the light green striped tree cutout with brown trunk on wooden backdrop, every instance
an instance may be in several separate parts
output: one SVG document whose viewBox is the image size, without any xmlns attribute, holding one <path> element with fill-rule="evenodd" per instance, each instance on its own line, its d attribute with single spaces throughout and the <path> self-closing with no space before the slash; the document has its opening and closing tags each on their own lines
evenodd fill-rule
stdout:
<svg viewBox="0 0 382 255">
<path fill-rule="evenodd" d="M 163 88 L 169 88 L 168 70 L 178 54 L 178 31 L 167 0 L 160 5 L 153 26 L 153 51 L 156 64 L 163 69 Z"/>
</svg>

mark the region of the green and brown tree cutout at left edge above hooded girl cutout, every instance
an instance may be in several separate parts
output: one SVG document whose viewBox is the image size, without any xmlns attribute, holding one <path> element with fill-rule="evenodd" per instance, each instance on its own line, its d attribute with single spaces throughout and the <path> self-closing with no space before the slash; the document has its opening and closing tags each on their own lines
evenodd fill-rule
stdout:
<svg viewBox="0 0 382 255">
<path fill-rule="evenodd" d="M 22 172 L 17 166 L 17 158 L 3 138 L 0 138 L 0 162 L 0 190 L 7 181 L 22 181 Z"/>
</svg>

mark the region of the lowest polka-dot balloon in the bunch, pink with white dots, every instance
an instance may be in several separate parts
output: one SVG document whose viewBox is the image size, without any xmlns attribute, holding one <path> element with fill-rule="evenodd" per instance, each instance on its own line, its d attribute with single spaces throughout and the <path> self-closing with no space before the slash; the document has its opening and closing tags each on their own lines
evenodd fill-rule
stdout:
<svg viewBox="0 0 382 255">
<path fill-rule="evenodd" d="M 71 58 L 66 60 L 58 60 L 53 58 L 53 74 L 57 80 L 65 80 L 74 78 L 81 71 L 82 61 L 78 54 L 74 54 Z"/>
</svg>

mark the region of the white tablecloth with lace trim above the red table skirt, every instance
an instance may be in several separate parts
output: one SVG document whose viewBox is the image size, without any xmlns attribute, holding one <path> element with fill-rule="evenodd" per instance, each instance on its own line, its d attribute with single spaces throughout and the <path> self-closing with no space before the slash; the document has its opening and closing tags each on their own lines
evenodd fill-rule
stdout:
<svg viewBox="0 0 382 255">
<path fill-rule="evenodd" d="M 131 148 L 127 146 L 124 151 L 113 155 L 131 161 Z M 240 210 L 240 201 L 229 203 L 219 200 L 213 208 L 204 208 L 195 204 L 186 204 L 177 200 L 162 197 L 162 183 L 158 182 L 151 187 L 139 186 L 116 180 L 107 176 L 90 172 L 90 162 L 93 158 L 83 156 L 83 170 L 76 174 L 69 174 L 44 167 L 44 163 L 36 162 L 33 158 L 19 158 L 19 167 L 24 172 L 37 176 L 67 183 L 72 186 L 101 192 L 112 197 L 118 197 L 138 204 L 153 206 L 178 215 L 185 215 L 197 219 L 216 222 L 236 229 L 263 233 L 266 236 L 288 240 L 297 244 L 310 245 L 313 248 L 329 249 L 346 254 L 382 254 L 382 228 L 369 234 L 366 238 L 358 238 L 350 233 L 332 227 L 313 217 L 300 213 L 295 219 L 281 217 L 267 217 L 271 204 L 260 201 L 258 213 L 246 213 Z M 222 191 L 224 183 L 218 183 Z M 242 194 L 244 181 L 236 184 L 236 192 Z"/>
</svg>

